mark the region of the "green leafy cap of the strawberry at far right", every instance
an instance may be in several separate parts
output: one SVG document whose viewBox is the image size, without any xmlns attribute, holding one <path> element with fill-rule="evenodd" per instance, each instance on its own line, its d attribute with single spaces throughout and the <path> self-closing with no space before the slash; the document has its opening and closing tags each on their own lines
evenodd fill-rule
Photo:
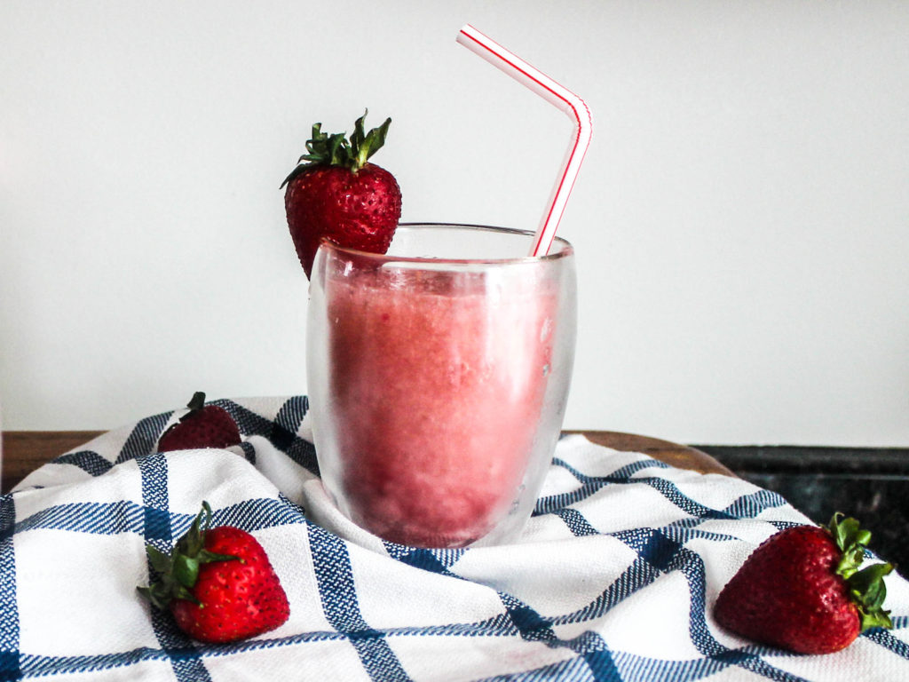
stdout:
<svg viewBox="0 0 909 682">
<path fill-rule="evenodd" d="M 890 612 L 882 607 L 887 596 L 884 576 L 894 570 L 892 564 L 872 564 L 860 568 L 864 552 L 871 541 L 871 533 L 859 527 L 854 518 L 842 518 L 836 512 L 827 530 L 834 537 L 843 557 L 836 566 L 836 573 L 846 581 L 849 594 L 858 608 L 862 632 L 870 627 L 893 627 Z"/>
</svg>

